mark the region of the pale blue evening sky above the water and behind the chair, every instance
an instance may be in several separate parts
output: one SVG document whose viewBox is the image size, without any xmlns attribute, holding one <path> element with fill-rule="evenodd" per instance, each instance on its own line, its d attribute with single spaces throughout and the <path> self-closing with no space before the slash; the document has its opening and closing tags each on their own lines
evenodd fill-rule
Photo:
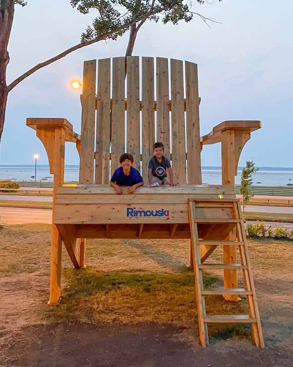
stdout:
<svg viewBox="0 0 293 367">
<path fill-rule="evenodd" d="M 240 165 L 293 166 L 293 1 L 223 0 L 194 11 L 222 24 L 208 28 L 199 18 L 177 26 L 146 23 L 133 55 L 162 56 L 196 62 L 199 68 L 201 135 L 223 120 L 259 119 Z M 16 7 L 9 44 L 8 83 L 35 64 L 77 44 L 88 16 L 69 0 L 28 0 Z M 0 164 L 47 164 L 41 141 L 25 126 L 26 117 L 65 117 L 80 133 L 79 92 L 69 87 L 82 78 L 83 61 L 125 54 L 128 34 L 78 50 L 37 71 L 8 97 L 0 145 Z M 203 165 L 220 165 L 220 145 L 206 146 Z M 78 164 L 72 143 L 66 143 L 66 164 Z"/>
</svg>

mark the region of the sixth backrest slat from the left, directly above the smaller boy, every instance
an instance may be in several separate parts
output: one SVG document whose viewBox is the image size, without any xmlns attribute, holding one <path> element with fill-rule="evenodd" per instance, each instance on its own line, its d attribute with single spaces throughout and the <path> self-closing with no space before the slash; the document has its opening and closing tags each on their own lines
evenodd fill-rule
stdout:
<svg viewBox="0 0 293 367">
<path fill-rule="evenodd" d="M 164 144 L 165 155 L 170 155 L 170 125 L 169 125 L 169 76 L 168 59 L 157 57 L 157 141 Z"/>
</svg>

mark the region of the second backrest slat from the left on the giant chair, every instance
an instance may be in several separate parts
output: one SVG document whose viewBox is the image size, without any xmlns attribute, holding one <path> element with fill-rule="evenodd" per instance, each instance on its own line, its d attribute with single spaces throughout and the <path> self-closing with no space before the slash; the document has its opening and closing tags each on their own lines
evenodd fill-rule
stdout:
<svg viewBox="0 0 293 367">
<path fill-rule="evenodd" d="M 109 182 L 111 59 L 98 61 L 98 103 L 95 183 Z"/>
</svg>

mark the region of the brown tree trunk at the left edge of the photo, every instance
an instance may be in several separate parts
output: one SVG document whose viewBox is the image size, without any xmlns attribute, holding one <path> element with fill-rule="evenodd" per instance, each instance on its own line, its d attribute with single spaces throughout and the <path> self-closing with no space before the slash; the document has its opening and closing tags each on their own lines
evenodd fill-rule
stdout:
<svg viewBox="0 0 293 367">
<path fill-rule="evenodd" d="M 9 63 L 7 46 L 14 17 L 14 0 L 0 1 L 0 142 L 3 132 L 8 89 L 6 68 Z"/>
</svg>

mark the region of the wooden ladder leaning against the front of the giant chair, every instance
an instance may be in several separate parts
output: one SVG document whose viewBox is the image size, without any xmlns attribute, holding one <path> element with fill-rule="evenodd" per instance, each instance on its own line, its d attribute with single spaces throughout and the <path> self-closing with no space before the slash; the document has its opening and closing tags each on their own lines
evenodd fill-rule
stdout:
<svg viewBox="0 0 293 367">
<path fill-rule="evenodd" d="M 220 208 L 220 203 L 230 203 L 232 207 L 232 218 L 210 218 L 203 219 L 196 217 L 196 206 L 210 208 L 213 203 L 213 208 Z M 217 206 L 218 203 L 218 206 Z M 196 301 L 197 301 L 197 313 L 199 324 L 199 338 L 203 347 L 209 344 L 208 323 L 251 323 L 252 337 L 256 346 L 264 348 L 264 340 L 262 335 L 262 328 L 260 322 L 260 316 L 258 311 L 256 293 L 253 282 L 253 275 L 251 271 L 251 263 L 248 253 L 248 246 L 246 242 L 246 233 L 242 221 L 241 207 L 238 200 L 190 200 L 188 203 L 188 214 L 191 233 L 191 248 L 193 258 L 193 269 L 195 275 L 195 287 L 196 287 Z M 199 215 L 198 215 L 199 216 Z M 206 215 L 207 216 L 207 215 Z M 205 216 L 205 217 L 206 217 Z M 235 241 L 227 241 L 223 239 L 205 241 L 198 238 L 198 223 L 200 224 L 217 224 L 227 226 L 227 223 L 235 223 L 236 238 Z M 200 245 L 205 246 L 238 246 L 241 258 L 241 264 L 203 264 L 200 256 Z M 212 288 L 204 289 L 203 285 L 203 270 L 210 269 L 240 269 L 243 271 L 243 278 L 245 288 Z M 246 295 L 249 315 L 207 315 L 206 313 L 206 295 Z"/>
</svg>

